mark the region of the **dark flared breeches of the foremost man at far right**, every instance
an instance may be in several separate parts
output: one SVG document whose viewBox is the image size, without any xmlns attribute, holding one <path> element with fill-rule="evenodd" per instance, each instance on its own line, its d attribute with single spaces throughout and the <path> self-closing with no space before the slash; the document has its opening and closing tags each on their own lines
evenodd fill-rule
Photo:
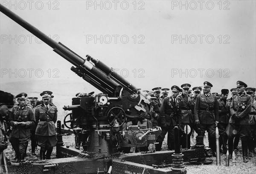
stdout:
<svg viewBox="0 0 256 174">
<path fill-rule="evenodd" d="M 228 123 L 226 133 L 230 139 L 235 138 L 235 136 L 238 134 L 241 138 L 241 141 L 246 141 L 250 136 L 250 125 Z"/>
</svg>

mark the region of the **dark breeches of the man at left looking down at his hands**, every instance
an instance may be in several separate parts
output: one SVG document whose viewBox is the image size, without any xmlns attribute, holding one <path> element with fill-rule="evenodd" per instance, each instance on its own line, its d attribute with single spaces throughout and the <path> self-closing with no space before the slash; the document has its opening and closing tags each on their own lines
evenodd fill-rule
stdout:
<svg viewBox="0 0 256 174">
<path fill-rule="evenodd" d="M 12 144 L 12 148 L 14 149 L 16 156 L 18 157 L 19 154 L 25 154 L 26 149 L 29 144 L 29 137 L 28 138 L 10 138 L 10 143 Z"/>
</svg>

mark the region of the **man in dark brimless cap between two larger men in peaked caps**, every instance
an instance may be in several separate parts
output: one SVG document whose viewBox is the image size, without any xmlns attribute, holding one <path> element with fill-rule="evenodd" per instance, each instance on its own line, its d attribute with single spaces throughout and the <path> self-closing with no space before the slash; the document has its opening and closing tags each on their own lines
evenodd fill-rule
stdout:
<svg viewBox="0 0 256 174">
<path fill-rule="evenodd" d="M 220 140 L 220 148 L 222 145 L 223 154 L 227 153 L 227 134 L 225 132 L 229 119 L 230 119 L 230 102 L 227 101 L 228 89 L 221 90 L 221 98 L 218 99 L 218 107 L 219 107 L 219 140 Z"/>
</svg>

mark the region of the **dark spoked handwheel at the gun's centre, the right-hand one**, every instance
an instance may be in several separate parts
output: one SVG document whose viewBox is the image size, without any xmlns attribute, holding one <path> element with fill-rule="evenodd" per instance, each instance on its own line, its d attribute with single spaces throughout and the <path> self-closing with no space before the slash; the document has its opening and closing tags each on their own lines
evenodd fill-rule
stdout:
<svg viewBox="0 0 256 174">
<path fill-rule="evenodd" d="M 125 123 L 125 111 L 121 107 L 113 107 L 108 111 L 108 122 L 114 128 L 121 127 Z"/>
</svg>

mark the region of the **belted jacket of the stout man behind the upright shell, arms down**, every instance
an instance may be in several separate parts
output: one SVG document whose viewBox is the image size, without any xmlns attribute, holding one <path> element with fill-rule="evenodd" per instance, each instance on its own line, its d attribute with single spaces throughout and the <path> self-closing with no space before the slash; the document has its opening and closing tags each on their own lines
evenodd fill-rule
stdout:
<svg viewBox="0 0 256 174">
<path fill-rule="evenodd" d="M 195 101 L 195 120 L 200 124 L 214 124 L 219 120 L 218 101 L 215 95 L 199 94 Z"/>
</svg>

